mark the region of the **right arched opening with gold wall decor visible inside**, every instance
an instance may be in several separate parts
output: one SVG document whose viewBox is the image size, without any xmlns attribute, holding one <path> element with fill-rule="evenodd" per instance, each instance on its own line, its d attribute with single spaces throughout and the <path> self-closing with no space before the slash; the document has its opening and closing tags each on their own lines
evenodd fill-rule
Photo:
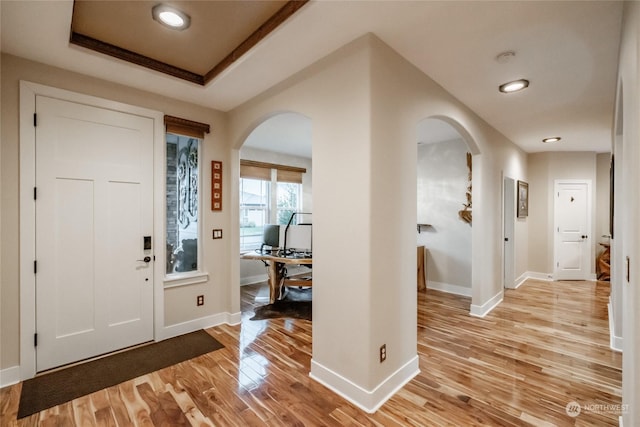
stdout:
<svg viewBox="0 0 640 427">
<path fill-rule="evenodd" d="M 427 287 L 471 297 L 477 148 L 459 124 L 443 117 L 421 120 L 416 136 L 417 244 L 425 247 Z"/>
</svg>

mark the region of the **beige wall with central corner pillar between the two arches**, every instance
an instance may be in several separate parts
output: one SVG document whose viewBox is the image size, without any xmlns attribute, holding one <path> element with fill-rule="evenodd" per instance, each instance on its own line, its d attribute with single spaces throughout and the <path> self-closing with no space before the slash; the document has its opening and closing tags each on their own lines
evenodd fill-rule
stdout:
<svg viewBox="0 0 640 427">
<path fill-rule="evenodd" d="M 473 226 L 478 306 L 502 292 L 502 224 L 496 215 L 502 210 L 502 174 L 524 179 L 526 156 L 371 35 L 233 110 L 233 144 L 239 147 L 275 111 L 302 113 L 313 122 L 312 373 L 320 365 L 372 390 L 416 355 L 417 123 L 442 117 L 478 154 Z M 526 240 L 526 230 L 521 232 Z M 349 250 L 336 252 L 339 242 Z M 380 364 L 383 343 L 389 356 Z M 340 385 L 354 397 L 351 386 Z"/>
</svg>

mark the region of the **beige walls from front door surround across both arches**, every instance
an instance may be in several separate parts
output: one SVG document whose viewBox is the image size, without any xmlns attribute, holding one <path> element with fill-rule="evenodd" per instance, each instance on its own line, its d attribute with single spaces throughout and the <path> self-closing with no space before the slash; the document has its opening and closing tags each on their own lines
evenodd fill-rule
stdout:
<svg viewBox="0 0 640 427">
<path fill-rule="evenodd" d="M 239 227 L 238 180 L 232 177 L 239 173 L 242 142 L 276 111 L 299 112 L 313 121 L 317 286 L 312 363 L 345 380 L 339 383 L 345 387 L 343 393 L 351 396 L 364 390 L 366 393 L 354 397 L 362 398 L 365 406 L 375 405 L 376 393 L 386 396 L 384 387 L 378 386 L 389 386 L 387 381 L 399 370 L 411 375 L 402 371 L 408 364 L 417 367 L 415 131 L 420 120 L 438 117 L 448 121 L 474 154 L 471 310 L 482 312 L 502 295 L 502 219 L 497 213 L 502 211 L 503 176 L 526 180 L 526 155 L 373 35 L 341 48 L 232 111 L 228 120 L 222 113 L 105 81 L 11 56 L 3 60 L 1 247 L 2 265 L 11 268 L 2 271 L 2 367 L 14 366 L 19 360 L 15 247 L 20 79 L 212 125 L 203 154 L 205 164 L 211 159 L 227 162 L 223 190 L 227 208 L 215 214 L 207 210 L 204 235 L 211 228 L 223 228 L 230 230 L 224 234 L 230 237 L 222 242 L 204 240 L 204 258 L 211 274 L 208 283 L 166 291 L 167 324 L 239 311 L 239 239 L 233 231 Z M 203 194 L 210 190 L 207 175 Z M 526 227 L 517 227 L 516 233 L 518 241 L 526 242 Z M 206 293 L 208 304 L 201 311 L 191 307 L 196 293 Z M 382 344 L 387 345 L 388 357 L 380 364 Z"/>
</svg>

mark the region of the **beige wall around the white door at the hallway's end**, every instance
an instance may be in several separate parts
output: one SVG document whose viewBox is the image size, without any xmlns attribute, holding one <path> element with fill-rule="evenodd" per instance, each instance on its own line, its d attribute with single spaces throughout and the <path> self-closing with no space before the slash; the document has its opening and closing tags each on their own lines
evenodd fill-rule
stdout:
<svg viewBox="0 0 640 427">
<path fill-rule="evenodd" d="M 529 271 L 550 275 L 553 273 L 554 252 L 554 180 L 585 179 L 591 181 L 592 222 L 589 233 L 591 252 L 595 254 L 599 239 L 596 236 L 596 153 L 545 152 L 528 156 L 529 165 Z M 595 255 L 594 255 L 595 256 Z M 595 258 L 590 272 L 595 274 Z"/>
</svg>

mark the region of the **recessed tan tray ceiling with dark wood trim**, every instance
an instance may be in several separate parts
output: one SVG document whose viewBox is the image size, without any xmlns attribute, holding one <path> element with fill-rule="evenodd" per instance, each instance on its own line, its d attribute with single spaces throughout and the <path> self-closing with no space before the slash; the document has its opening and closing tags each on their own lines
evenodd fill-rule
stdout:
<svg viewBox="0 0 640 427">
<path fill-rule="evenodd" d="M 266 37 L 307 0 L 179 1 L 191 17 L 178 31 L 152 18 L 157 1 L 73 5 L 70 41 L 103 54 L 204 85 Z"/>
</svg>

